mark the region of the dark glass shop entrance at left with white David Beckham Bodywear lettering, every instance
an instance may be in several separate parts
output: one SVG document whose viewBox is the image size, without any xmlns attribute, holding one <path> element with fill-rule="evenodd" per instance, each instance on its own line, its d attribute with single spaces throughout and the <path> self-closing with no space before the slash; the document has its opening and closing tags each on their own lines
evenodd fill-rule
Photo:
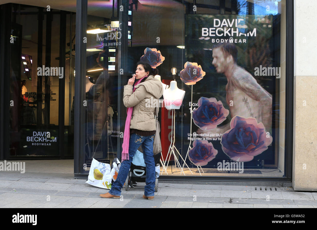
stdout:
<svg viewBox="0 0 317 230">
<path fill-rule="evenodd" d="M 9 6 L 7 159 L 73 158 L 75 14 L 22 4 Z"/>
</svg>

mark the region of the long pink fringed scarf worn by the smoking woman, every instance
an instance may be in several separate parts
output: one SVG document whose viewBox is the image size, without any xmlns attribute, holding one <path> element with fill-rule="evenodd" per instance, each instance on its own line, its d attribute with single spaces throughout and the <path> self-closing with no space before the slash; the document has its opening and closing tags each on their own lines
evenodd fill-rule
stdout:
<svg viewBox="0 0 317 230">
<path fill-rule="evenodd" d="M 143 77 L 146 78 L 147 76 Z M 137 81 L 134 84 L 133 87 L 133 92 L 135 91 L 135 86 L 138 85 L 142 79 L 139 79 L 139 81 Z M 132 93 L 133 93 L 132 92 Z M 130 108 L 126 108 L 126 125 L 124 127 L 124 134 L 123 134 L 123 144 L 122 144 L 122 155 L 121 155 L 121 161 L 124 160 L 128 160 L 129 159 L 129 142 L 130 142 L 130 121 L 131 121 L 131 117 L 132 117 L 132 111 L 133 111 L 133 107 Z"/>
</svg>

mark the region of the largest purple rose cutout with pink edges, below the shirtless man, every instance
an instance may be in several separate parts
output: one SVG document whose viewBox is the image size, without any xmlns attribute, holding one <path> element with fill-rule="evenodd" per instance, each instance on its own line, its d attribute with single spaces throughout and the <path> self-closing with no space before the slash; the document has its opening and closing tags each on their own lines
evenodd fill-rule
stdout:
<svg viewBox="0 0 317 230">
<path fill-rule="evenodd" d="M 253 117 L 235 116 L 230 121 L 230 130 L 221 137 L 223 152 L 233 161 L 247 162 L 268 149 L 273 138 L 264 125 Z"/>
</svg>

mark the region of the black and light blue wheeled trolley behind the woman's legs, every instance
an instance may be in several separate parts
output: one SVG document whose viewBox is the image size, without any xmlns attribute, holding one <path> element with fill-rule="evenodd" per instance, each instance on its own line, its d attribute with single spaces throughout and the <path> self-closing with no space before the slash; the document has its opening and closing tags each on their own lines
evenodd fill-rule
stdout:
<svg viewBox="0 0 317 230">
<path fill-rule="evenodd" d="M 158 191 L 159 188 L 159 160 L 161 154 L 154 155 L 154 163 L 155 163 L 155 192 Z M 133 162 L 135 164 L 133 164 Z M 146 167 L 144 163 L 143 153 L 137 150 L 133 157 L 133 161 L 130 166 L 130 171 L 126 178 L 126 191 L 129 189 L 129 185 L 131 188 L 144 188 L 144 185 L 139 185 L 137 182 L 145 182 L 146 180 Z"/>
</svg>

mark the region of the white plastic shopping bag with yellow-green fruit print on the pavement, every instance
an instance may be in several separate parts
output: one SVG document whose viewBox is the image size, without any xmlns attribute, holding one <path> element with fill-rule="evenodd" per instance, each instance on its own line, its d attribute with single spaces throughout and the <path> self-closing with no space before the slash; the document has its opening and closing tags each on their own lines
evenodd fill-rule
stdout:
<svg viewBox="0 0 317 230">
<path fill-rule="evenodd" d="M 101 163 L 93 159 L 86 183 L 102 189 L 111 189 L 110 171 L 111 167 L 109 164 Z"/>
</svg>

